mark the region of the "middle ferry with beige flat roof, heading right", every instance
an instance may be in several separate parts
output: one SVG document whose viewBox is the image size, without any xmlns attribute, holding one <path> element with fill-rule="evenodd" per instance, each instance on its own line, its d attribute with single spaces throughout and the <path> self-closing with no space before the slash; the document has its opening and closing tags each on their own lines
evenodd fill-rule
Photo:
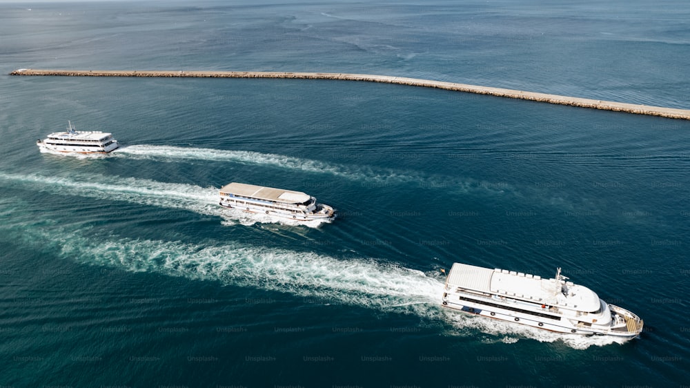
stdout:
<svg viewBox="0 0 690 388">
<path fill-rule="evenodd" d="M 315 197 L 301 191 L 237 182 L 226 184 L 220 189 L 220 205 L 297 221 L 329 220 L 335 217 L 331 206 L 317 204 Z"/>
</svg>

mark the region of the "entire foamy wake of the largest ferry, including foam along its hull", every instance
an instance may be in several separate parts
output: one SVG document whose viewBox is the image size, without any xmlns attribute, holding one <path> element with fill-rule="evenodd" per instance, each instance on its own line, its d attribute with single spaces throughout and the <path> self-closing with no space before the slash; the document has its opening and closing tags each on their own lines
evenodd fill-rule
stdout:
<svg viewBox="0 0 690 388">
<path fill-rule="evenodd" d="M 446 336 L 488 335 L 479 338 L 482 342 L 511 344 L 530 338 L 561 341 L 573 349 L 618 342 L 615 338 L 551 333 L 443 309 L 444 279 L 438 271 L 424 273 L 371 258 L 342 259 L 225 240 L 186 243 L 117 235 L 90 237 L 88 227 L 76 224 L 44 226 L 26 204 L 15 202 L 0 200 L 0 218 L 7 221 L 0 224 L 2 235 L 81 264 L 277 291 L 306 298 L 310 303 L 412 314 L 427 322 L 442 323 L 440 330 Z"/>
</svg>

